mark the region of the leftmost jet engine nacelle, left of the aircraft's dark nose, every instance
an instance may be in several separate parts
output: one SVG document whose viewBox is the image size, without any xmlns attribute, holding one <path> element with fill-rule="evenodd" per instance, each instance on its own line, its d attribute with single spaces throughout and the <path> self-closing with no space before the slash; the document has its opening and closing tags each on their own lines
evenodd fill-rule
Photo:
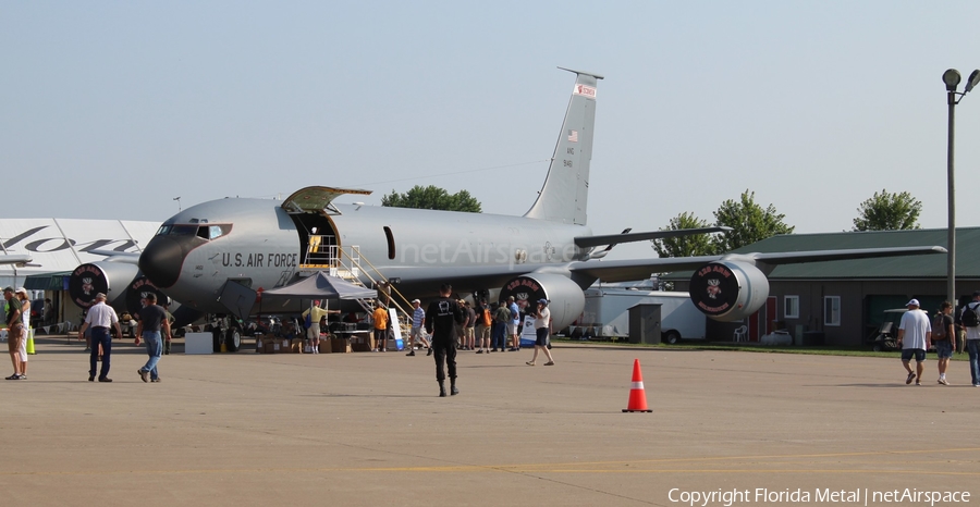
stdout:
<svg viewBox="0 0 980 507">
<path fill-rule="evenodd" d="M 95 304 L 95 295 L 103 293 L 117 311 L 126 309 L 127 287 L 139 268 L 126 262 L 90 262 L 82 264 L 69 276 L 69 296 L 79 308 Z"/>
</svg>

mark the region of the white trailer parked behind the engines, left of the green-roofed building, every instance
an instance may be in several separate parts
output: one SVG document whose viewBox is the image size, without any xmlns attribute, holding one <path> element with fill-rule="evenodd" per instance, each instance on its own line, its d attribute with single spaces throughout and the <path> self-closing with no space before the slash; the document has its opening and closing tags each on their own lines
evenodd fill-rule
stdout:
<svg viewBox="0 0 980 507">
<path fill-rule="evenodd" d="M 663 342 L 673 344 L 681 339 L 705 338 L 707 318 L 695 308 L 687 293 L 599 285 L 587 288 L 585 297 L 585 309 L 577 324 L 583 334 L 628 337 L 629 308 L 638 304 L 659 304 Z"/>
</svg>

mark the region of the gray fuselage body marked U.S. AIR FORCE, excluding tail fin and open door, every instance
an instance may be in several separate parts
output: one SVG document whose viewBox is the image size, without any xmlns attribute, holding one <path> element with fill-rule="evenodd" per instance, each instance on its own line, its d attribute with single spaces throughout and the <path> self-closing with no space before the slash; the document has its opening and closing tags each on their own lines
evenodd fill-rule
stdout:
<svg viewBox="0 0 980 507">
<path fill-rule="evenodd" d="M 161 227 L 183 230 L 155 236 L 140 268 L 169 296 L 206 312 L 226 311 L 218 296 L 229 280 L 256 290 L 295 282 L 307 261 L 303 237 L 308 233 L 281 205 L 229 198 L 187 208 Z M 363 267 L 369 263 L 385 277 L 400 279 L 395 288 L 412 298 L 436 295 L 442 282 L 457 293 L 495 288 L 541 267 L 583 260 L 590 250 L 573 242 L 591 234 L 581 225 L 363 205 L 336 205 L 336 210 L 342 214 L 329 220 L 338 246 L 344 251 L 358 247 Z M 221 233 L 212 238 L 210 231 Z M 370 285 L 366 276 L 362 281 Z M 261 309 L 271 312 L 284 304 L 262 301 Z"/>
</svg>

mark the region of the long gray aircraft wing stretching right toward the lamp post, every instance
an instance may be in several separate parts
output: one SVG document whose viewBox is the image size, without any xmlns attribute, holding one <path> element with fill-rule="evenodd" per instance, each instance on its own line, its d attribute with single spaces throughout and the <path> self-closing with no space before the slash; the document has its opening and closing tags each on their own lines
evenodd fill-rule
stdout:
<svg viewBox="0 0 980 507">
<path fill-rule="evenodd" d="M 840 259 L 867 259 L 874 257 L 921 256 L 945 253 L 940 246 L 854 248 L 843 250 L 782 251 L 771 253 L 726 253 L 724 256 L 670 257 L 657 259 L 628 259 L 616 261 L 583 261 L 569 265 L 572 273 L 596 277 L 603 282 L 629 282 L 649 277 L 652 273 L 687 271 L 700 268 L 707 262 L 731 259 L 752 264 L 794 264 Z"/>
</svg>

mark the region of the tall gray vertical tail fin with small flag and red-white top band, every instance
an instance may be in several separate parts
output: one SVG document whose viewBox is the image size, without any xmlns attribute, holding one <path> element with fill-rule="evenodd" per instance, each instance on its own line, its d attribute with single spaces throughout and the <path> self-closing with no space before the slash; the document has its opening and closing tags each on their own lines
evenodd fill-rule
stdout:
<svg viewBox="0 0 980 507">
<path fill-rule="evenodd" d="M 559 134 L 544 186 L 530 210 L 530 219 L 585 225 L 589 197 L 589 162 L 592 160 L 592 131 L 596 125 L 596 84 L 602 76 L 587 72 L 576 74 L 575 88 L 565 122 Z"/>
</svg>

